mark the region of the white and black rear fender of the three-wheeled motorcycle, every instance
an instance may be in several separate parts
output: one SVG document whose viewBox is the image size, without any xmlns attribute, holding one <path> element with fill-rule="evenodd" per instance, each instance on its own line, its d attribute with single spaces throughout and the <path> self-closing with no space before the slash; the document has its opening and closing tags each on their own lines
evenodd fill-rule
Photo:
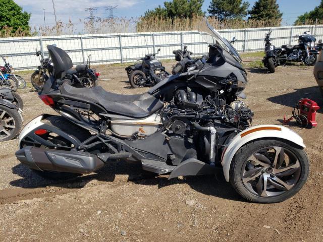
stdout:
<svg viewBox="0 0 323 242">
<path fill-rule="evenodd" d="M 41 137 L 41 135 L 36 135 L 35 131 L 37 130 L 46 130 L 49 133 L 55 133 L 64 139 L 70 141 L 74 147 L 77 147 L 81 144 L 81 142 L 74 136 L 67 134 L 66 132 L 62 131 L 61 129 L 53 126 L 49 126 L 43 122 L 43 120 L 48 117 L 53 116 L 49 114 L 42 114 L 33 120 L 31 120 L 20 132 L 19 140 L 18 140 L 18 146 L 19 149 L 22 148 L 22 143 L 27 145 L 44 145 L 46 147 L 56 147 L 57 145 L 54 145 L 50 141 L 47 141 Z"/>
</svg>

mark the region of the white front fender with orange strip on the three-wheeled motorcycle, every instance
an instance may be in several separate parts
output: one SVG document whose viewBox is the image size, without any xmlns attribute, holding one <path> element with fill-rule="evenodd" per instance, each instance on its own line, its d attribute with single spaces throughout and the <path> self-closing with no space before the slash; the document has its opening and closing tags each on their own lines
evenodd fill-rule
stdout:
<svg viewBox="0 0 323 242">
<path fill-rule="evenodd" d="M 230 177 L 230 166 L 234 155 L 246 143 L 263 138 L 278 138 L 288 140 L 298 146 L 305 148 L 303 139 L 294 131 L 278 125 L 259 125 L 254 126 L 237 134 L 228 144 L 225 153 L 222 155 L 221 164 L 223 166 L 224 176 L 227 181 Z"/>
</svg>

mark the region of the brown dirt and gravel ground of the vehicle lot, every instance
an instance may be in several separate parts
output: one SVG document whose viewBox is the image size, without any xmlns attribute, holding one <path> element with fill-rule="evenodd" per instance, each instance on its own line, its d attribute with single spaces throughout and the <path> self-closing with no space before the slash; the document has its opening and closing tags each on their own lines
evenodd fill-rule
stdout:
<svg viewBox="0 0 323 242">
<path fill-rule="evenodd" d="M 130 88 L 124 67 L 97 70 L 106 90 L 145 91 Z M 248 79 L 254 125 L 281 124 L 302 97 L 323 106 L 312 67 L 279 67 L 274 74 L 252 69 Z M 52 113 L 31 89 L 19 94 L 24 124 Z M 1 143 L 0 241 L 323 241 L 322 117 L 320 109 L 315 129 L 291 128 L 307 146 L 310 177 L 296 196 L 279 204 L 243 200 L 221 172 L 168 180 L 125 162 L 53 183 L 16 160 L 17 140 Z"/>
</svg>

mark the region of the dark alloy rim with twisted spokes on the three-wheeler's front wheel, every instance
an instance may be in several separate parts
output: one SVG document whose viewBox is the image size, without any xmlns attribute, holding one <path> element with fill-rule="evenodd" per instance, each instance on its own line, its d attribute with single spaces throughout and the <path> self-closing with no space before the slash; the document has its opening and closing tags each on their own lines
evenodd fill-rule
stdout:
<svg viewBox="0 0 323 242">
<path fill-rule="evenodd" d="M 274 146 L 262 148 L 246 160 L 241 171 L 245 188 L 259 197 L 287 193 L 298 183 L 301 165 L 290 150 Z"/>
</svg>

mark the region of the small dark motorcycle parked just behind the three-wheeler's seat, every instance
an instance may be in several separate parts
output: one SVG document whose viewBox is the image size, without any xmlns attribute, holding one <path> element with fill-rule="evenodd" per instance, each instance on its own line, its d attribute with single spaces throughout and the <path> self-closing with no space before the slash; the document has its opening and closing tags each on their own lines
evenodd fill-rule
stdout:
<svg viewBox="0 0 323 242">
<path fill-rule="evenodd" d="M 155 55 L 159 51 L 160 49 L 157 50 L 157 53 L 146 54 L 143 58 L 139 59 L 141 63 L 125 69 L 130 85 L 133 88 L 152 87 L 170 75 L 161 62 L 155 59 Z"/>
</svg>

